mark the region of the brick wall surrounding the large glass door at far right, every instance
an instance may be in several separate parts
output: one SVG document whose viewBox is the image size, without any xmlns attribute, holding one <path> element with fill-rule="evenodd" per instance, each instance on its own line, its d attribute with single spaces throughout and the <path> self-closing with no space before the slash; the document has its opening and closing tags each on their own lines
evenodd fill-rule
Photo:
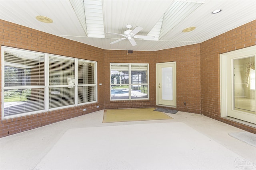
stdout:
<svg viewBox="0 0 256 170">
<path fill-rule="evenodd" d="M 201 43 L 202 114 L 256 133 L 256 129 L 220 117 L 220 54 L 256 45 L 256 20 Z"/>
</svg>

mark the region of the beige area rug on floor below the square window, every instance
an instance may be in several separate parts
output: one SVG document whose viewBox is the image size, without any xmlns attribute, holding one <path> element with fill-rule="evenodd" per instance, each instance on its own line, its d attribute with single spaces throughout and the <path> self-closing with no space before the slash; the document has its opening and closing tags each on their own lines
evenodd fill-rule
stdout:
<svg viewBox="0 0 256 170">
<path fill-rule="evenodd" d="M 154 109 L 106 109 L 104 110 L 103 123 L 173 119 L 163 112 L 154 111 Z"/>
</svg>

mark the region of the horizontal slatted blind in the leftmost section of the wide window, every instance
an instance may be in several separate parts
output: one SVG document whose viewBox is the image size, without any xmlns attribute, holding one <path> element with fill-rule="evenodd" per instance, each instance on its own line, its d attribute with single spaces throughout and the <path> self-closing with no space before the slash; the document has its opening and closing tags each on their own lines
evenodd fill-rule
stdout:
<svg viewBox="0 0 256 170">
<path fill-rule="evenodd" d="M 4 116 L 44 110 L 44 54 L 4 48 Z"/>
</svg>

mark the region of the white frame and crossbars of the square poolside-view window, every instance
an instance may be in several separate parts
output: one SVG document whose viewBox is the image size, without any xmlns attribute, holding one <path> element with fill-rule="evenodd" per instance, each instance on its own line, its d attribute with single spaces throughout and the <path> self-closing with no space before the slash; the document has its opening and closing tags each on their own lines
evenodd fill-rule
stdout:
<svg viewBox="0 0 256 170">
<path fill-rule="evenodd" d="M 114 85 L 114 84 L 111 84 L 111 64 L 128 64 L 128 77 L 129 77 L 129 82 L 128 82 L 128 89 L 129 89 L 129 97 L 128 99 L 111 99 L 111 86 Z M 147 71 L 148 71 L 148 75 L 147 75 L 147 80 L 148 80 L 148 83 L 138 83 L 138 84 L 135 84 L 135 83 L 131 83 L 132 80 L 132 76 L 131 76 L 131 72 L 132 72 L 132 64 L 147 64 Z M 148 90 L 148 97 L 147 98 L 132 98 L 132 94 L 131 94 L 131 90 L 132 90 L 132 85 L 147 85 L 147 90 Z M 110 63 L 110 101 L 122 101 L 122 100 L 149 100 L 149 63 Z"/>
</svg>

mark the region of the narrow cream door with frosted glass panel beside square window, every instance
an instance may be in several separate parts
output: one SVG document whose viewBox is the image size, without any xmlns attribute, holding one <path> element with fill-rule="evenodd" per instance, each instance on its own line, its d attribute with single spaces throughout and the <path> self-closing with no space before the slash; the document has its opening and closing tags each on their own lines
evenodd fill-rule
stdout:
<svg viewBox="0 0 256 170">
<path fill-rule="evenodd" d="M 176 62 L 156 64 L 156 105 L 176 107 Z"/>
</svg>

